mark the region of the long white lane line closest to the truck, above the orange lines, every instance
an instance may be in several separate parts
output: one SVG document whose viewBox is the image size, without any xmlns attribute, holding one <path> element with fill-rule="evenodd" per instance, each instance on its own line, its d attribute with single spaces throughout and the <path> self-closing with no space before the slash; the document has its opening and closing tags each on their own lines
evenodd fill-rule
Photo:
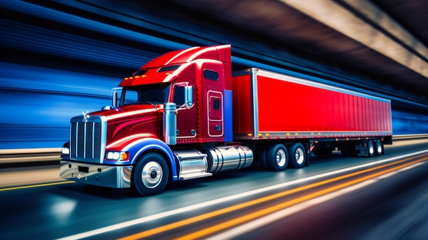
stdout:
<svg viewBox="0 0 428 240">
<path fill-rule="evenodd" d="M 211 201 L 208 201 L 208 202 L 202 202 L 202 203 L 199 203 L 199 204 L 194 204 L 192 206 L 185 206 L 185 207 L 182 207 L 180 209 L 174 209 L 174 210 L 166 211 L 166 212 L 163 212 L 163 213 L 157 213 L 155 215 L 150 215 L 150 216 L 147 216 L 147 217 L 140 217 L 140 218 L 133 219 L 133 220 L 130 220 L 130 221 L 127 221 L 127 222 L 122 222 L 120 224 L 113 224 L 113 225 L 110 225 L 110 226 L 105 226 L 103 228 L 89 230 L 87 232 L 81 232 L 81 233 L 78 233 L 76 235 L 70 235 L 68 237 L 60 238 L 58 240 L 83 239 L 83 238 L 86 238 L 86 237 L 92 237 L 92 236 L 95 236 L 95 235 L 103 234 L 105 232 L 111 232 L 113 230 L 119 230 L 121 228 L 126 228 L 126 227 L 137 225 L 137 224 L 142 224 L 144 222 L 150 222 L 150 221 L 153 221 L 155 219 L 161 219 L 163 217 L 169 217 L 169 216 L 172 216 L 172 215 L 177 215 L 177 214 L 180 214 L 180 213 L 185 213 L 187 211 L 195 211 L 196 209 L 202 209 L 202 208 L 205 208 L 207 206 L 213 206 L 215 204 L 221 204 L 221 203 L 232 201 L 232 200 L 236 200 L 236 199 L 239 199 L 239 198 L 245 198 L 245 197 L 256 195 L 256 194 L 261 194 L 261 193 L 263 193 L 265 191 L 271 191 L 271 190 L 274 190 L 274 189 L 279 189 L 279 188 L 282 188 L 282 187 L 288 187 L 290 185 L 295 185 L 295 184 L 298 184 L 298 183 L 304 183 L 304 182 L 307 182 L 307 181 L 313 181 L 315 179 L 324 178 L 326 176 L 332 176 L 332 175 L 340 174 L 340 173 L 343 173 L 343 172 L 349 172 L 351 170 L 357 170 L 357 169 L 360 169 L 360 168 L 366 168 L 366 167 L 369 167 L 371 165 L 378 165 L 380 163 L 387 163 L 389 161 L 395 161 L 397 159 L 402 159 L 402 158 L 406 158 L 406 157 L 412 157 L 414 155 L 421 155 L 421 154 L 423 154 L 425 152 L 428 152 L 428 150 L 423 150 L 423 151 L 419 151 L 419 152 L 413 152 L 413 153 L 410 153 L 410 154 L 407 154 L 407 155 L 392 157 L 390 159 L 384 159 L 384 160 L 381 160 L 381 161 L 375 161 L 375 162 L 366 163 L 366 164 L 363 164 L 363 165 L 356 165 L 356 166 L 353 166 L 353 167 L 350 167 L 350 168 L 344 168 L 344 169 L 336 170 L 336 171 L 333 171 L 333 172 L 326 172 L 324 174 L 310 176 L 308 178 L 297 179 L 295 181 L 291 181 L 291 182 L 287 182 L 287 183 L 280 183 L 280 184 L 269 186 L 269 187 L 263 187 L 263 188 L 260 188 L 260 189 L 255 189 L 255 190 L 252 190 L 252 191 L 247 191 L 247 192 L 242 193 L 242 194 L 235 194 L 235 195 L 232 195 L 232 196 L 227 196 L 227 197 L 224 197 L 224 198 L 219 198 L 217 200 L 211 200 Z"/>
</svg>

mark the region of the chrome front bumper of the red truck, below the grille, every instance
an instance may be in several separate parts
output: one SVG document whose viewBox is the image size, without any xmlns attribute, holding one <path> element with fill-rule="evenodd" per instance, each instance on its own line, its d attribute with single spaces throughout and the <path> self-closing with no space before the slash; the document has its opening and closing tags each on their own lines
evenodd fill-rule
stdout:
<svg viewBox="0 0 428 240">
<path fill-rule="evenodd" d="M 132 167 L 79 163 L 61 160 L 59 177 L 103 187 L 131 187 Z"/>
</svg>

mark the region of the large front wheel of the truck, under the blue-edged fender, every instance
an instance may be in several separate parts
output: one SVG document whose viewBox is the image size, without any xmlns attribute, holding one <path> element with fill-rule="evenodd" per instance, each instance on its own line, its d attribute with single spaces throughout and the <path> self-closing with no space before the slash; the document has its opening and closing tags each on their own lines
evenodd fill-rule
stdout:
<svg viewBox="0 0 428 240">
<path fill-rule="evenodd" d="M 168 183 L 169 174 L 165 159 L 155 152 L 150 152 L 135 165 L 131 184 L 142 196 L 160 194 Z"/>
</svg>

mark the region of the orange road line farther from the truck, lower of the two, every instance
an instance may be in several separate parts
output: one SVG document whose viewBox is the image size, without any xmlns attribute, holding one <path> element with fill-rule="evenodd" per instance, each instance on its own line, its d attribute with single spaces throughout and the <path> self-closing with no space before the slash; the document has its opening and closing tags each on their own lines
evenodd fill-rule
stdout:
<svg viewBox="0 0 428 240">
<path fill-rule="evenodd" d="M 329 187 L 327 189 L 322 189 L 320 191 L 316 191 L 315 193 L 307 194 L 305 196 L 302 196 L 302 197 L 299 197 L 299 198 L 295 198 L 293 200 L 289 200 L 289 201 L 283 202 L 281 204 L 277 204 L 277 205 L 271 206 L 271 207 L 269 207 L 267 209 L 262 209 L 262 210 L 254 212 L 254 213 L 250 213 L 248 215 L 244 215 L 242 217 L 237 217 L 237 218 L 229 220 L 227 222 L 223 222 L 222 224 L 217 224 L 215 226 L 211 226 L 209 228 L 205 228 L 205 229 L 199 230 L 197 232 L 192 232 L 189 235 L 185 235 L 183 237 L 178 238 L 178 240 L 189 240 L 189 239 L 198 239 L 198 238 L 201 238 L 201 237 L 205 237 L 205 236 L 210 235 L 210 234 L 212 234 L 214 232 L 218 232 L 220 230 L 224 230 L 224 229 L 230 228 L 232 226 L 237 226 L 238 224 L 242 224 L 244 222 L 248 222 L 248 221 L 250 221 L 252 219 L 256 219 L 258 217 L 263 217 L 265 215 L 268 215 L 270 213 L 279 211 L 281 209 L 286 209 L 289 206 L 293 206 L 293 205 L 299 204 L 301 202 L 306 202 L 308 200 L 312 200 L 312 199 L 317 198 L 319 196 L 323 196 L 325 194 L 329 194 L 329 193 L 331 193 L 333 191 L 338 191 L 340 189 L 343 189 L 345 187 L 349 187 L 351 185 L 356 185 L 357 183 L 362 183 L 362 182 L 367 181 L 367 180 L 369 180 L 371 178 L 375 178 L 377 176 L 382 176 L 384 174 L 388 174 L 389 172 L 394 172 L 395 170 L 399 170 L 401 168 L 406 168 L 409 165 L 414 165 L 416 163 L 420 163 L 422 161 L 426 161 L 427 159 L 428 159 L 428 157 L 425 157 L 425 159 L 416 160 L 416 161 L 413 161 L 411 163 L 405 163 L 403 165 L 399 165 L 397 167 L 390 168 L 388 170 L 384 170 L 382 172 L 378 172 L 378 173 L 375 173 L 375 174 L 371 174 L 371 175 L 368 175 L 368 176 L 363 176 L 361 178 L 354 179 L 353 181 L 349 181 L 347 183 L 342 183 L 342 184 L 339 184 L 339 185 L 335 185 L 333 187 Z"/>
</svg>

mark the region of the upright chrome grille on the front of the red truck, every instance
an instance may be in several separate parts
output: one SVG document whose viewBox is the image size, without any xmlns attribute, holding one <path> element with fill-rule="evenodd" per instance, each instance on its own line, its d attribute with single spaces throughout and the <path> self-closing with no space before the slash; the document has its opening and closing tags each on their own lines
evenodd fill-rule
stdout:
<svg viewBox="0 0 428 240">
<path fill-rule="evenodd" d="M 105 134 L 103 134 L 102 117 L 90 116 L 88 122 L 85 122 L 81 116 L 72 118 L 70 122 L 70 159 L 102 163 L 104 148 Z"/>
</svg>

